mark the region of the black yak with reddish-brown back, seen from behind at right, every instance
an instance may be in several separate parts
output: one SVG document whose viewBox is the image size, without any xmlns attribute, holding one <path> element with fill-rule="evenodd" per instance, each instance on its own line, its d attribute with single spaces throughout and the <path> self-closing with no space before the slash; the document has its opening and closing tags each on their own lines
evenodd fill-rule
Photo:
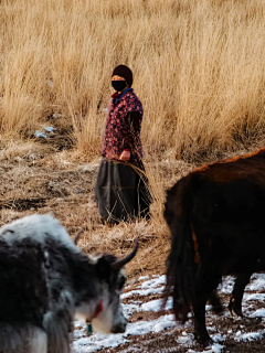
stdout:
<svg viewBox="0 0 265 353">
<path fill-rule="evenodd" d="M 166 297 L 173 291 L 177 320 L 193 311 L 195 338 L 210 340 L 208 300 L 219 308 L 222 276 L 236 276 L 230 310 L 242 315 L 251 275 L 265 270 L 265 149 L 193 170 L 167 192 L 171 231 Z"/>
</svg>

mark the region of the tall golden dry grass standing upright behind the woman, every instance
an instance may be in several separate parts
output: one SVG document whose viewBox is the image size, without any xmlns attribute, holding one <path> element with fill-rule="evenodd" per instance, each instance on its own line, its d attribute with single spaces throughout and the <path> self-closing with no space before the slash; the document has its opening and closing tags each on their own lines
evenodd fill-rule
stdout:
<svg viewBox="0 0 265 353">
<path fill-rule="evenodd" d="M 129 65 L 150 154 L 230 150 L 263 138 L 265 2 L 2 0 L 0 131 L 72 119 L 98 153 L 115 65 Z"/>
</svg>

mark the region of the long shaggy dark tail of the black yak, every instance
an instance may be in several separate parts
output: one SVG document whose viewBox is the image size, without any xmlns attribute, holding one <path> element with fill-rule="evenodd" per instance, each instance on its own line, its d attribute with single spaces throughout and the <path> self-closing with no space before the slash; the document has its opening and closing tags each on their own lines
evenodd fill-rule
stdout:
<svg viewBox="0 0 265 353">
<path fill-rule="evenodd" d="M 181 179 L 167 192 L 165 218 L 171 231 L 171 250 L 167 259 L 165 303 L 173 296 L 176 320 L 184 323 L 194 298 L 194 246 L 189 210 L 192 194 L 188 192 L 187 179 Z M 190 185 L 189 185 L 190 186 Z"/>
</svg>

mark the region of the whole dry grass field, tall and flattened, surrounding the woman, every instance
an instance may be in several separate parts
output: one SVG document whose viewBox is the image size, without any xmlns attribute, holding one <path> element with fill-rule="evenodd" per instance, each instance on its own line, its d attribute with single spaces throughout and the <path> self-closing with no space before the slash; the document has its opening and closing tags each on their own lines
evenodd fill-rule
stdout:
<svg viewBox="0 0 265 353">
<path fill-rule="evenodd" d="M 163 271 L 166 189 L 264 146 L 264 15 L 262 0 L 1 0 L 0 225 L 54 212 L 87 250 L 124 254 L 139 236 L 129 271 Z M 107 227 L 94 184 L 119 63 L 144 103 L 155 202 L 151 221 Z M 36 139 L 46 126 L 56 131 Z"/>
</svg>

